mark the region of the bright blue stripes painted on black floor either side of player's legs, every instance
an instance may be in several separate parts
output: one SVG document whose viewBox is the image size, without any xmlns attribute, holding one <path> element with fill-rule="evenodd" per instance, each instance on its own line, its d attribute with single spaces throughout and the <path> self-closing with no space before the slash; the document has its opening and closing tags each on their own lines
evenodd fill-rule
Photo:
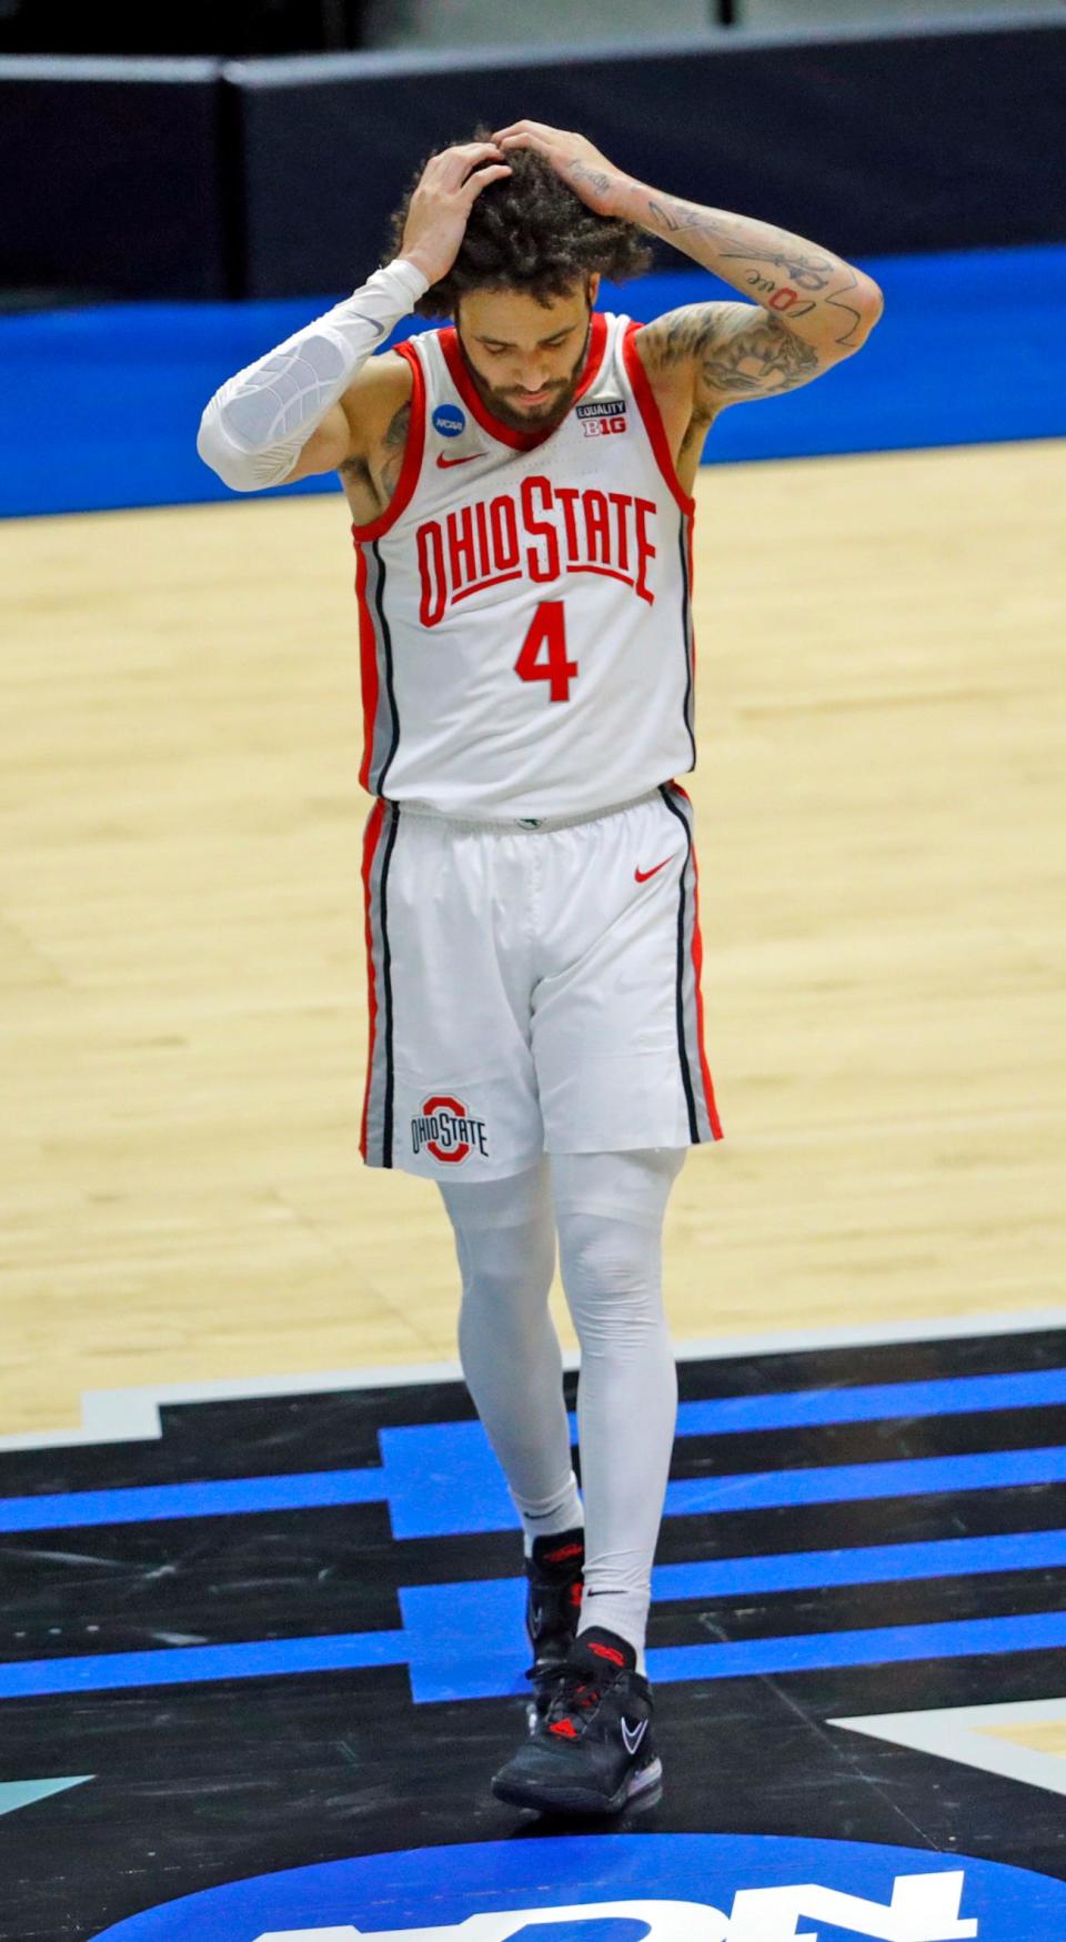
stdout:
<svg viewBox="0 0 1066 1942">
<path fill-rule="evenodd" d="M 767 1507 L 862 1503 L 922 1493 L 983 1491 L 992 1501 L 1010 1488 L 1066 1480 L 1066 1447 L 1037 1445 L 957 1456 L 889 1462 L 812 1464 L 734 1472 L 728 1437 L 783 1427 L 893 1422 L 967 1412 L 1029 1412 L 1066 1402 L 1066 1369 L 1016 1375 L 946 1377 L 850 1389 L 784 1390 L 685 1402 L 680 1449 L 693 1437 L 722 1439 L 713 1474 L 678 1478 L 666 1517 L 715 1517 Z M 128 1653 L 25 1658 L 0 1666 L 0 1699 L 49 1693 L 117 1691 L 144 1686 L 196 1686 L 217 1680 L 282 1678 L 315 1672 L 406 1666 L 416 1705 L 489 1699 L 524 1691 L 516 1641 L 522 1639 L 524 1581 L 470 1579 L 406 1585 L 402 1546 L 416 1538 L 515 1530 L 503 1474 L 478 1422 L 441 1422 L 379 1431 L 381 1464 L 287 1476 L 223 1478 L 130 1490 L 85 1490 L 0 1501 L 0 1530 L 74 1530 L 165 1519 L 254 1517 L 270 1511 L 381 1503 L 400 1546 L 398 1627 L 313 1637 L 245 1639 L 227 1645 L 163 1647 Z M 683 1455 L 682 1455 L 683 1460 Z M 1039 1573 L 1066 1565 L 1066 1528 L 1006 1530 L 990 1536 L 862 1544 L 841 1550 L 788 1550 L 664 1565 L 654 1573 L 656 1602 L 744 1598 L 773 1592 L 903 1585 L 994 1573 Z M 1049 1589 L 1047 1604 L 1052 1604 Z M 478 1653 L 468 1641 L 478 1637 Z M 909 1625 L 866 1625 L 652 1651 L 658 1682 L 753 1678 L 866 1664 L 1060 1651 L 1066 1612 L 1049 1608 Z"/>
</svg>

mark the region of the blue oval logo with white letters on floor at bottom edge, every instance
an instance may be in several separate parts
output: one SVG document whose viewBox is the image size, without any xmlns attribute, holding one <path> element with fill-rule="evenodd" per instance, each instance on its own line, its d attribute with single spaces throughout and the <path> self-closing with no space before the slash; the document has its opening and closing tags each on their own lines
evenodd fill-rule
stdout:
<svg viewBox="0 0 1066 1942">
<path fill-rule="evenodd" d="M 289 1868 L 95 1942 L 1058 1942 L 1064 1921 L 1066 1882 L 967 1855 L 617 1833 Z"/>
</svg>

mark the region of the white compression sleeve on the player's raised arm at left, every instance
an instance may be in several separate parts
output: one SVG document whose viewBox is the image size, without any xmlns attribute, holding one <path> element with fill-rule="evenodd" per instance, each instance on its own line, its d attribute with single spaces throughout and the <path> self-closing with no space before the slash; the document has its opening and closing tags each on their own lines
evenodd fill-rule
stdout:
<svg viewBox="0 0 1066 1942">
<path fill-rule="evenodd" d="M 398 258 L 258 363 L 237 371 L 200 419 L 196 451 L 204 464 L 235 491 L 280 486 L 330 404 L 425 289 L 429 278 Z"/>
</svg>

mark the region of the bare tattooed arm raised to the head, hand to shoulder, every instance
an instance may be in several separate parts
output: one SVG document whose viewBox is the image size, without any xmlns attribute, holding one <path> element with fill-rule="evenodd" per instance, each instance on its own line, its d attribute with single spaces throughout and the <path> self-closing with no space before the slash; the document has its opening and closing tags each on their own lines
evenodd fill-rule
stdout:
<svg viewBox="0 0 1066 1942">
<path fill-rule="evenodd" d="M 705 425 L 746 398 L 810 385 L 870 336 L 883 301 L 870 276 L 773 223 L 666 196 L 623 175 L 584 136 L 515 122 L 501 150 L 534 148 L 600 216 L 664 237 L 751 303 L 693 303 L 641 332 L 645 365 L 691 379 L 693 416 Z"/>
</svg>

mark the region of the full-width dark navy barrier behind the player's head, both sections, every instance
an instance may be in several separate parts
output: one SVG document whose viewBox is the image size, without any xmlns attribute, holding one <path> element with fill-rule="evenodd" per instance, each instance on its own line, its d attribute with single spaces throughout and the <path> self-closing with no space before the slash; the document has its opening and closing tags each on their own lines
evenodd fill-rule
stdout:
<svg viewBox="0 0 1066 1942">
<path fill-rule="evenodd" d="M 571 56 L 0 62 L 0 284 L 303 295 L 379 260 L 421 155 L 532 115 L 845 254 L 1060 241 L 1066 21 Z M 676 262 L 676 258 L 672 256 Z"/>
</svg>

